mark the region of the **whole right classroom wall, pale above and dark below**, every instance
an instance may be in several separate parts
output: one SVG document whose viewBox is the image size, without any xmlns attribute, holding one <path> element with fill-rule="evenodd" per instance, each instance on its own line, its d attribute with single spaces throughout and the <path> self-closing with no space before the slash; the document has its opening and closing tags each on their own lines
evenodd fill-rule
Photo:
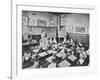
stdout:
<svg viewBox="0 0 100 80">
<path fill-rule="evenodd" d="M 63 14 L 61 18 L 62 26 L 61 31 L 58 30 L 58 36 L 66 36 L 69 33 L 70 38 L 74 41 L 88 43 L 89 40 L 89 15 L 79 13 Z"/>
</svg>

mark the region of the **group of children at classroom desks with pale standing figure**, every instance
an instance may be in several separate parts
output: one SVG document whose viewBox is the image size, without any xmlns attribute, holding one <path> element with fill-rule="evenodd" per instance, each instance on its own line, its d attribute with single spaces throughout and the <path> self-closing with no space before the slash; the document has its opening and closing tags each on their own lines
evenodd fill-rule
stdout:
<svg viewBox="0 0 100 80">
<path fill-rule="evenodd" d="M 37 47 L 37 50 L 39 51 L 42 49 L 43 51 L 47 50 L 50 46 L 52 46 L 53 50 L 57 50 L 56 54 L 53 54 L 50 58 L 51 63 L 48 65 L 49 67 L 57 67 L 56 59 L 65 59 L 66 57 L 70 55 L 75 55 L 76 57 L 79 57 L 78 60 L 76 60 L 76 64 L 78 65 L 89 65 L 89 49 L 84 47 L 84 45 L 80 42 L 75 43 L 73 39 L 67 40 L 66 37 L 64 37 L 64 40 L 60 43 L 57 43 L 57 40 L 54 38 L 53 40 L 50 38 L 48 40 L 47 34 L 43 32 L 41 34 L 41 39 L 39 41 L 39 46 Z M 38 52 L 37 51 L 37 52 Z M 32 66 L 33 68 L 40 68 L 39 60 L 37 59 L 38 54 L 32 54 L 31 51 L 25 51 L 22 56 L 22 68 L 27 68 Z M 59 62 L 59 61 L 58 61 Z"/>
</svg>

